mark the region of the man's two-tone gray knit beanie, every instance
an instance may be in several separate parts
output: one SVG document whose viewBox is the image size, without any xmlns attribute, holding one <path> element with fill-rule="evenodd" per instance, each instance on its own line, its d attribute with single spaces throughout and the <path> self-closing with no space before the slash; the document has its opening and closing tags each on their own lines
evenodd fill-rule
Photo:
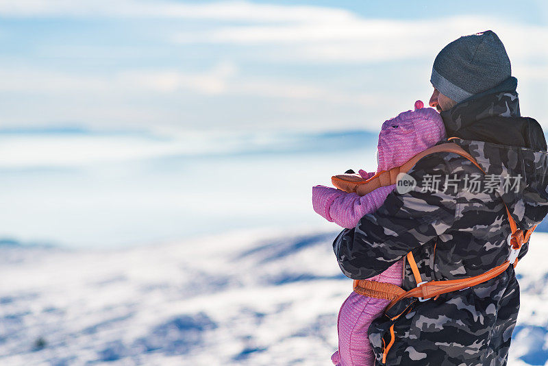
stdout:
<svg viewBox="0 0 548 366">
<path fill-rule="evenodd" d="M 436 56 L 430 82 L 460 103 L 497 86 L 511 75 L 510 59 L 501 40 L 486 31 L 453 40 Z"/>
</svg>

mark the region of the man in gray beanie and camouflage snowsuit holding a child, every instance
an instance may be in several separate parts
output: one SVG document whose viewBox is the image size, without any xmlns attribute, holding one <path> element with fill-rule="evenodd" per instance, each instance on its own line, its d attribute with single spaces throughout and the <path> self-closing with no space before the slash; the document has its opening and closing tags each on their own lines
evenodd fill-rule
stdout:
<svg viewBox="0 0 548 366">
<path fill-rule="evenodd" d="M 548 213 L 545 136 L 537 121 L 520 117 L 517 80 L 498 36 L 486 31 L 449 43 L 430 81 L 430 106 L 447 136 L 479 167 L 452 152 L 419 160 L 408 172 L 416 180 L 411 191 L 390 193 L 379 210 L 335 239 L 338 263 L 350 278 L 375 276 L 408 252 L 419 273 L 408 260 L 406 291 L 482 275 L 512 254 L 506 207 L 523 231 Z M 506 365 L 518 309 L 512 265 L 461 291 L 404 298 L 369 328 L 376 364 Z"/>
</svg>

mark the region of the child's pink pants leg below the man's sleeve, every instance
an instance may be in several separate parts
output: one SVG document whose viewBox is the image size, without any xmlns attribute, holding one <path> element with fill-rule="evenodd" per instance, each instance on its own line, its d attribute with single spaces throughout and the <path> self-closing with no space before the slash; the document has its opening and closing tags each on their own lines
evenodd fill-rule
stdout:
<svg viewBox="0 0 548 366">
<path fill-rule="evenodd" d="M 370 278 L 401 286 L 403 259 L 388 267 L 386 271 Z M 372 366 L 375 355 L 371 349 L 367 330 L 373 319 L 384 312 L 389 300 L 376 299 L 352 292 L 343 302 L 338 313 L 338 351 L 331 356 L 337 366 Z"/>
</svg>

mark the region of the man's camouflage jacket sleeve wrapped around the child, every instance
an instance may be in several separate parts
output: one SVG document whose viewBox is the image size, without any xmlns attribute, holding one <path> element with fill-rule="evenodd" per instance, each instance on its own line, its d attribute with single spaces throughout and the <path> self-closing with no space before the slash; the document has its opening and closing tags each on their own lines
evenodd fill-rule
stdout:
<svg viewBox="0 0 548 366">
<path fill-rule="evenodd" d="M 445 152 L 419 160 L 408 173 L 417 182 L 411 191 L 393 191 L 377 211 L 364 215 L 356 228 L 338 234 L 333 249 L 345 276 L 354 280 L 376 276 L 451 228 L 462 187 L 445 190 L 444 186 L 449 172 L 456 180 L 464 173 L 463 169 L 449 169 L 449 165 L 458 167 L 456 164 L 462 164 L 462 157 Z"/>
</svg>

